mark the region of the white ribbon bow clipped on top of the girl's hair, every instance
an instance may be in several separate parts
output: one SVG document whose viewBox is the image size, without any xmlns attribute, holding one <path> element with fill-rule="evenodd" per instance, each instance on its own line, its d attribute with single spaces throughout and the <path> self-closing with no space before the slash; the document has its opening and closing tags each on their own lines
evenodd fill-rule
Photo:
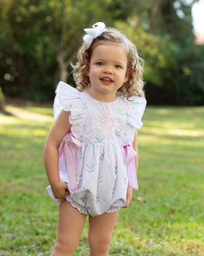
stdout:
<svg viewBox="0 0 204 256">
<path fill-rule="evenodd" d="M 87 34 L 83 36 L 83 41 L 87 49 L 89 49 L 95 38 L 100 36 L 102 32 L 106 31 L 105 24 L 103 22 L 97 22 L 92 27 L 93 29 L 84 29 Z"/>
</svg>

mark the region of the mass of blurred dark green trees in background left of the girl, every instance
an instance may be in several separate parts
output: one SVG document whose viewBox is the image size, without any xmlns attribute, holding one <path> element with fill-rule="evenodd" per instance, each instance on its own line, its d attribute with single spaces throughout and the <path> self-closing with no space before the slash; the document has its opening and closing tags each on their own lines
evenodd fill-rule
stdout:
<svg viewBox="0 0 204 256">
<path fill-rule="evenodd" d="M 111 23 L 111 0 L 2 0 L 0 35 L 6 95 L 47 100 L 56 81 L 66 81 L 84 24 Z M 53 90 L 51 89 L 53 86 Z"/>
</svg>

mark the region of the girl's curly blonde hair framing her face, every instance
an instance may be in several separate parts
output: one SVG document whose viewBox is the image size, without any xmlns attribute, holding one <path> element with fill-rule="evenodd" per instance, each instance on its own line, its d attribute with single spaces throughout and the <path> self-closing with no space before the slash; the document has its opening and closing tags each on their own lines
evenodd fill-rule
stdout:
<svg viewBox="0 0 204 256">
<path fill-rule="evenodd" d="M 72 63 L 73 75 L 77 84 L 78 91 L 85 91 L 90 88 L 89 76 L 87 71 L 91 59 L 91 54 L 96 45 L 102 44 L 102 41 L 120 44 L 126 51 L 128 56 L 128 81 L 118 89 L 118 96 L 145 96 L 143 87 L 144 81 L 142 73 L 144 70 L 144 61 L 139 57 L 135 45 L 128 39 L 124 32 L 118 31 L 114 28 L 107 28 L 106 31 L 95 38 L 91 46 L 87 49 L 85 43 L 79 48 L 77 52 L 77 63 Z"/>
</svg>

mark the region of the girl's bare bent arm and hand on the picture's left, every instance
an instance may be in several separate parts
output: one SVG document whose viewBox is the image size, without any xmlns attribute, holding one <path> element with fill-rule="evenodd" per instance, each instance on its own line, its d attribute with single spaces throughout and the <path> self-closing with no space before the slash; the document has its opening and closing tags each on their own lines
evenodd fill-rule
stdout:
<svg viewBox="0 0 204 256">
<path fill-rule="evenodd" d="M 44 165 L 55 198 L 60 201 L 69 194 L 67 185 L 60 182 L 58 148 L 63 137 L 70 131 L 70 112 L 62 110 L 48 133 L 44 148 Z"/>
</svg>

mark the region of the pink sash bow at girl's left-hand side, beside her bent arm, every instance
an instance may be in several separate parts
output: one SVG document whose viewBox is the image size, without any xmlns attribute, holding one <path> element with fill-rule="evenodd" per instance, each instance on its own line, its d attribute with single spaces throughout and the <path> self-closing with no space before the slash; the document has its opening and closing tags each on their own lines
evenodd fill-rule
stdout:
<svg viewBox="0 0 204 256">
<path fill-rule="evenodd" d="M 65 156 L 65 163 L 68 172 L 67 186 L 71 196 L 76 192 L 79 183 L 79 170 L 74 147 L 80 148 L 81 142 L 78 141 L 72 133 L 68 133 L 62 139 L 58 149 L 60 170 L 63 168 L 63 156 Z"/>
</svg>

